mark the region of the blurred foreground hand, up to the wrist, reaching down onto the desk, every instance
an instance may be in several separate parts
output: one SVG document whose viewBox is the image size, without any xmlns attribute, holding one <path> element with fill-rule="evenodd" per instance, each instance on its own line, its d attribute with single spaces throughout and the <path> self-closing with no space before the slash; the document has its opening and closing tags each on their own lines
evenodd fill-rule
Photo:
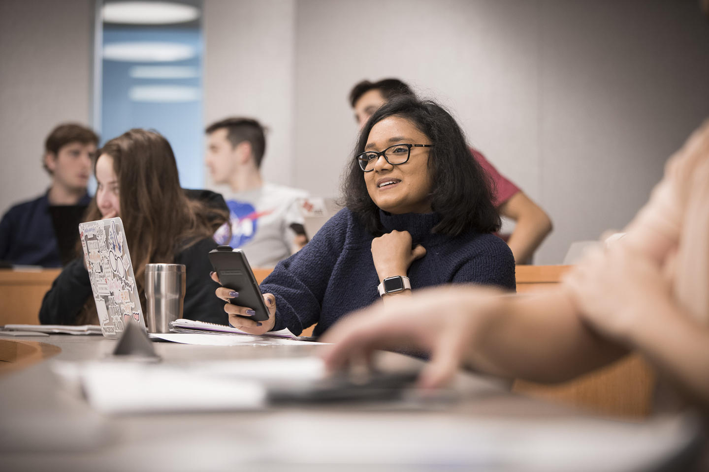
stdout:
<svg viewBox="0 0 709 472">
<path fill-rule="evenodd" d="M 423 350 L 430 354 L 418 379 L 424 388 L 444 386 L 474 348 L 486 321 L 495 318 L 503 292 L 491 287 L 449 285 L 423 289 L 391 304 L 375 303 L 352 313 L 323 335 L 330 372 L 371 359 L 374 350 Z"/>
</svg>

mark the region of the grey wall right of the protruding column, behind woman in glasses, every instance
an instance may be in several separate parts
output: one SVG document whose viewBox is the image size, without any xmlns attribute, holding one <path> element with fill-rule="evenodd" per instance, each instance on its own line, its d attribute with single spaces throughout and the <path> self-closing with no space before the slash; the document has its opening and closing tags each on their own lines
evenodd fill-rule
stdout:
<svg viewBox="0 0 709 472">
<path fill-rule="evenodd" d="M 709 114 L 695 0 L 300 0 L 294 184 L 335 195 L 359 79 L 396 76 L 452 108 L 554 220 L 536 263 L 620 228 Z"/>
</svg>

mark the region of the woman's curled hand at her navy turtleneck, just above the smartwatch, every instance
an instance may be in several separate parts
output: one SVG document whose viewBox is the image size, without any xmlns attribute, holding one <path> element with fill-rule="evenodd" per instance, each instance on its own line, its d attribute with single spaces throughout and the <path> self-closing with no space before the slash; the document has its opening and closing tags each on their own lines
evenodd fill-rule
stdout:
<svg viewBox="0 0 709 472">
<path fill-rule="evenodd" d="M 408 231 L 391 231 L 372 239 L 372 260 L 379 282 L 386 277 L 406 275 L 408 266 L 414 260 L 423 258 L 426 250 L 420 244 L 411 248 L 411 234 Z"/>
</svg>

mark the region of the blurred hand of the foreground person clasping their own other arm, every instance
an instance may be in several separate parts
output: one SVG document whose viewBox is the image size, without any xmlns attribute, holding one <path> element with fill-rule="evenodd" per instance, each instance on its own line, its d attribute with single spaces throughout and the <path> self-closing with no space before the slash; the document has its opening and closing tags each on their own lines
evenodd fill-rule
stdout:
<svg viewBox="0 0 709 472">
<path fill-rule="evenodd" d="M 671 285 L 642 253 L 616 243 L 590 251 L 564 277 L 581 316 L 599 332 L 629 343 L 651 318 L 671 313 Z"/>
</svg>

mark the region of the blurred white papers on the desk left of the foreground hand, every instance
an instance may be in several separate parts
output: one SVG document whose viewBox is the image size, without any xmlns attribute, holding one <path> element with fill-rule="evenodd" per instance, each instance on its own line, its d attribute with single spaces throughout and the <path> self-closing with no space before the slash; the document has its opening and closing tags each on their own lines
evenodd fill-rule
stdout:
<svg viewBox="0 0 709 472">
<path fill-rule="evenodd" d="M 269 384 L 322 379 L 319 357 L 281 357 L 142 364 L 123 360 L 52 363 L 65 381 L 81 384 L 91 406 L 104 413 L 257 410 Z"/>
</svg>

